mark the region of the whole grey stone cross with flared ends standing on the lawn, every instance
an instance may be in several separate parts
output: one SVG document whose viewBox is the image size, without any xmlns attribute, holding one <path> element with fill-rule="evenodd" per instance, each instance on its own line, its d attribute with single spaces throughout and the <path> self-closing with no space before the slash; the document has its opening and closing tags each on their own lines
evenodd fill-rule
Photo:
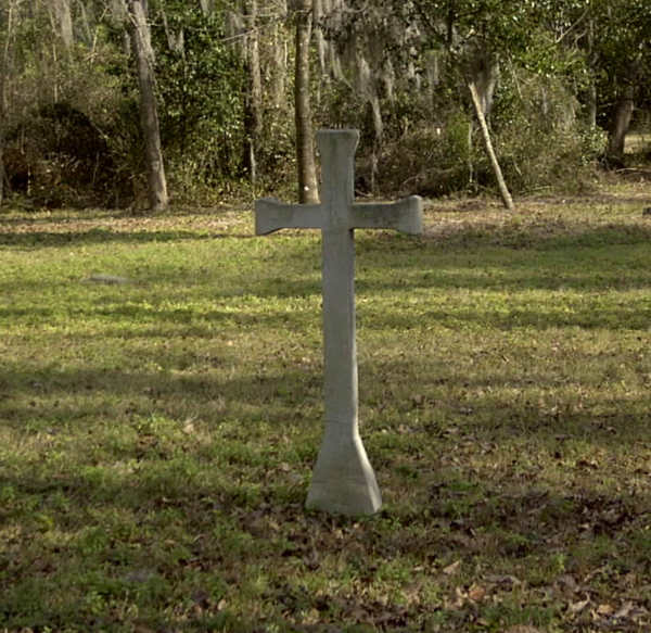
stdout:
<svg viewBox="0 0 651 633">
<path fill-rule="evenodd" d="M 394 203 L 354 201 L 359 132 L 320 130 L 321 203 L 255 203 L 255 232 L 282 228 L 322 231 L 323 382 L 326 429 L 306 506 L 344 515 L 371 515 L 382 505 L 375 473 L 359 436 L 355 343 L 356 228 L 422 232 L 417 195 Z"/>
</svg>

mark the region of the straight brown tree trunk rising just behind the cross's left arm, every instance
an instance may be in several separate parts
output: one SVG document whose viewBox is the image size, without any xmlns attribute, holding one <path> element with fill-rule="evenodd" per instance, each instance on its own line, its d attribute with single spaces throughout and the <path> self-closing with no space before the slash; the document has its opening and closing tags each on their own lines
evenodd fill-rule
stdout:
<svg viewBox="0 0 651 633">
<path fill-rule="evenodd" d="M 309 89 L 309 42 L 311 38 L 311 1 L 296 0 L 296 61 L 294 76 L 294 116 L 296 122 L 296 166 L 298 202 L 319 201 L 315 164 L 314 126 Z"/>
</svg>

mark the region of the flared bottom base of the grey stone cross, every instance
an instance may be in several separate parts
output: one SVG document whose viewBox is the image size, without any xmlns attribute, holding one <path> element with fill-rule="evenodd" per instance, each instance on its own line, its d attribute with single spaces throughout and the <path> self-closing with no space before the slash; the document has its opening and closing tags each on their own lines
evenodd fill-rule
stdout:
<svg viewBox="0 0 651 633">
<path fill-rule="evenodd" d="M 319 458 L 307 494 L 306 508 L 357 516 L 373 515 L 382 506 L 375 473 L 357 430 L 326 425 Z"/>
</svg>

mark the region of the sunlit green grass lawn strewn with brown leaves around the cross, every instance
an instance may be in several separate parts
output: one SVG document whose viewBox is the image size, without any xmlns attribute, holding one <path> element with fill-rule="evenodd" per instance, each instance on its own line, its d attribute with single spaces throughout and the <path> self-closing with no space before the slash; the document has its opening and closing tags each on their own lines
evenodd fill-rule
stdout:
<svg viewBox="0 0 651 633">
<path fill-rule="evenodd" d="M 357 231 L 363 519 L 303 508 L 317 232 L 0 215 L 0 632 L 649 631 L 650 204 Z"/>
</svg>

